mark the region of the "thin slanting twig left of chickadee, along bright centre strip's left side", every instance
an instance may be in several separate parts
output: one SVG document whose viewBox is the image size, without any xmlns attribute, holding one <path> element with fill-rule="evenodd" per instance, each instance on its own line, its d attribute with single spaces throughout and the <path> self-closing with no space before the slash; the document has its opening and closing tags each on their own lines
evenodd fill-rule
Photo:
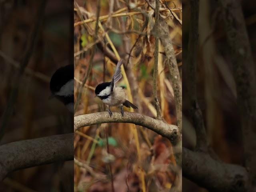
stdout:
<svg viewBox="0 0 256 192">
<path fill-rule="evenodd" d="M 94 37 L 93 37 L 93 41 L 96 41 L 96 39 L 98 38 L 99 17 L 100 17 L 100 0 L 97 0 L 96 17 L 97 17 L 97 19 L 96 19 L 95 34 L 94 34 Z M 81 18 L 82 18 L 82 16 L 81 16 Z M 93 61 L 93 58 L 94 58 L 95 50 L 96 50 L 96 44 L 94 44 L 94 46 L 92 47 L 92 54 L 91 54 L 91 57 L 90 57 L 87 73 L 86 73 L 86 76 L 84 77 L 82 85 L 79 87 L 78 96 L 77 96 L 77 99 L 76 99 L 76 104 L 74 106 L 74 112 L 76 112 L 78 104 L 80 103 L 80 100 L 81 100 L 81 97 L 82 97 L 82 91 L 83 91 L 83 88 L 84 88 L 84 84 L 86 84 L 86 81 L 87 81 L 87 79 L 89 77 L 89 74 L 90 74 L 90 71 L 92 69 L 92 61 Z"/>
</svg>

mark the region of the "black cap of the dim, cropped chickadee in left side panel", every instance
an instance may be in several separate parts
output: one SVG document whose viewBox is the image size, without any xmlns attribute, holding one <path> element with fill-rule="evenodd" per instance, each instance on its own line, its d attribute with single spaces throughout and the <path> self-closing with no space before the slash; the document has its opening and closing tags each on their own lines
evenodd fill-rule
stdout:
<svg viewBox="0 0 256 192">
<path fill-rule="evenodd" d="M 74 79 L 74 65 L 67 65 L 64 67 L 59 68 L 56 72 L 52 75 L 50 81 L 50 90 L 54 94 L 58 92 L 60 88 L 64 84 L 66 84 L 71 79 Z"/>
</svg>

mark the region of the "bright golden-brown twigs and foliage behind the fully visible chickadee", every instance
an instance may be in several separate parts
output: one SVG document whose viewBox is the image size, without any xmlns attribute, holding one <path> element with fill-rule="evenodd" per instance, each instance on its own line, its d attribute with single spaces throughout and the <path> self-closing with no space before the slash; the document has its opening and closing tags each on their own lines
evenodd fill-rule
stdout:
<svg viewBox="0 0 256 192">
<path fill-rule="evenodd" d="M 132 101 L 139 106 L 135 112 L 156 117 L 152 93 L 155 1 L 100 0 L 96 41 L 93 36 L 97 1 L 76 0 L 74 3 L 75 102 L 79 86 L 85 77 L 88 78 L 75 116 L 105 111 L 102 101 L 95 97 L 94 88 L 111 80 L 120 55 L 124 59 Z M 182 4 L 179 0 L 160 1 L 160 15 L 168 22 L 181 73 L 182 26 L 166 4 L 179 20 L 182 20 Z M 148 14 L 147 23 L 143 12 Z M 87 76 L 94 45 L 96 53 Z M 172 83 L 161 44 L 158 72 L 162 115 L 169 124 L 176 124 Z M 118 84 L 129 91 L 124 78 Z M 112 107 L 112 111 L 119 112 L 119 109 Z M 171 143 L 146 128 L 135 128 L 133 124 L 109 123 L 81 128 L 74 136 L 74 156 L 77 160 L 74 190 L 79 192 L 113 191 L 112 186 L 118 192 L 164 192 L 171 189 L 180 172 Z"/>
</svg>

